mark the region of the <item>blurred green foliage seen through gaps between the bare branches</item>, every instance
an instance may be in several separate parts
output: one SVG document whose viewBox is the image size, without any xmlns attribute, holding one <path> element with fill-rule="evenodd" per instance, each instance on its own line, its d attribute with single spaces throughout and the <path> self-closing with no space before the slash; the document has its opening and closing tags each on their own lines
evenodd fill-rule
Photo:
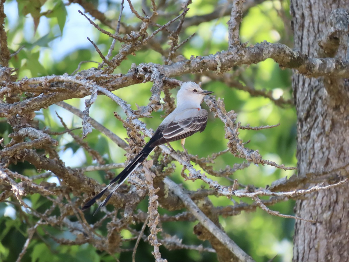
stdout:
<svg viewBox="0 0 349 262">
<path fill-rule="evenodd" d="M 138 8 L 140 6 L 140 1 L 132 2 L 135 7 Z M 94 3 L 96 5 L 98 4 L 97 1 Z M 118 16 L 120 10 L 119 3 L 106 1 L 101 3 L 101 5 L 102 4 L 103 8 L 106 10 L 106 16 L 112 19 Z M 210 13 L 215 9 L 216 5 L 217 1 L 212 0 L 194 1 L 192 5 L 190 5 L 191 9 L 188 12 L 188 17 Z M 287 4 L 282 1 L 282 5 L 283 9 L 281 9 L 279 1 L 265 1 L 248 10 L 241 26 L 240 34 L 242 41 L 249 42 L 249 44 L 264 40 L 269 42 L 289 43 L 291 40 L 290 36 L 285 32 L 283 20 L 276 12 L 277 9 L 279 12 L 283 12 L 285 16 L 288 16 L 289 11 Z M 127 8 L 128 6 L 125 4 L 124 17 L 122 19 L 125 22 L 127 21 L 128 24 L 134 25 L 138 21 L 129 11 L 126 11 Z M 14 13 L 13 11 L 16 9 L 17 12 Z M 73 9 L 74 13 L 73 11 L 69 12 L 70 9 Z M 140 8 L 138 8 L 138 10 L 140 10 Z M 194 10 L 196 10 L 196 12 L 194 12 Z M 18 69 L 17 74 L 19 79 L 51 74 L 70 74 L 78 67 L 80 61 L 101 61 L 99 55 L 92 46 L 86 45 L 82 48 L 80 46 L 74 47 L 74 44 L 80 40 L 74 39 L 74 35 L 65 35 L 68 31 L 65 24 L 69 19 L 72 19 L 69 15 L 81 16 L 76 12 L 75 4 L 65 6 L 64 2 L 61 0 L 18 0 L 17 2 L 12 0 L 5 3 L 5 12 L 8 16 L 5 27 L 8 33 L 9 48 L 14 52 L 20 46 L 24 45 L 24 48 L 18 52 L 16 56 L 13 56 L 10 61 L 11 66 Z M 19 15 L 19 17 L 14 19 L 17 15 Z M 210 53 L 226 50 L 228 45 L 228 26 L 226 21 L 228 19 L 229 18 L 225 16 L 217 20 L 201 23 L 199 26 L 187 28 L 185 32 L 181 34 L 181 38 L 183 38 L 181 40 L 184 40 L 193 32 L 196 32 L 196 35 L 181 48 L 184 56 L 186 58 L 190 58 L 192 55 L 205 56 Z M 12 22 L 10 23 L 9 20 Z M 165 23 L 166 21 L 158 22 Z M 80 23 L 84 23 L 85 26 L 86 24 L 89 25 L 88 21 L 82 16 Z M 76 30 L 80 30 L 78 26 L 79 25 L 77 25 Z M 89 27 L 91 35 L 86 34 L 86 37 L 93 37 L 98 47 L 106 54 L 111 44 L 111 39 L 100 34 L 92 25 L 89 25 Z M 102 27 L 106 30 L 110 30 L 105 26 Z M 45 30 L 45 28 L 49 30 Z M 53 42 L 56 43 L 54 45 L 55 48 L 64 49 L 66 46 L 60 47 L 59 44 L 59 41 L 64 37 L 71 39 L 73 47 L 70 48 L 70 51 L 64 56 L 58 58 L 54 57 L 55 52 L 58 50 L 52 48 Z M 86 38 L 81 41 L 86 41 Z M 119 47 L 120 45 L 117 44 L 113 55 L 117 53 Z M 166 48 L 166 46 L 164 46 L 164 48 Z M 144 62 L 162 63 L 162 57 L 153 50 L 141 50 L 137 52 L 135 56 L 129 56 L 128 60 L 124 61 L 114 73 L 126 73 L 132 63 L 140 64 Z M 81 70 L 96 66 L 96 63 L 84 63 L 81 66 Z M 276 98 L 282 95 L 285 99 L 291 99 L 291 71 L 281 70 L 272 60 L 266 60 L 258 65 L 245 67 L 243 76 L 245 79 L 248 79 L 251 85 L 256 89 L 272 90 Z M 190 80 L 193 79 L 193 76 L 185 75 L 181 79 Z M 136 109 L 136 104 L 140 106 L 147 105 L 150 97 L 150 87 L 151 83 L 145 83 L 122 88 L 116 90 L 114 93 L 131 104 L 133 109 Z M 227 110 L 235 110 L 238 114 L 238 121 L 241 122 L 242 125 L 250 124 L 251 126 L 260 126 L 280 123 L 280 126 L 273 129 L 261 131 L 241 130 L 240 138 L 244 139 L 245 142 L 251 140 L 247 146 L 254 150 L 258 149 L 265 159 L 280 164 L 283 163 L 286 166 L 296 165 L 296 114 L 294 108 L 291 106 L 280 108 L 269 99 L 252 97 L 245 91 L 231 89 L 221 82 L 212 81 L 203 83 L 203 87 L 207 90 L 214 91 L 214 95 L 217 97 L 224 98 Z M 173 94 L 175 93 L 176 91 L 173 90 Z M 66 102 L 82 110 L 84 109 L 83 99 L 72 99 Z M 205 107 L 205 105 L 203 106 Z M 121 116 L 125 117 L 122 110 L 118 108 L 114 102 L 104 96 L 98 96 L 96 103 L 92 105 L 90 110 L 91 117 L 118 134 L 121 138 L 126 138 L 126 131 L 122 127 L 122 124 L 114 118 L 113 111 L 117 111 Z M 73 116 L 66 110 L 55 105 L 37 112 L 36 119 L 39 121 L 40 126 L 46 126 L 52 131 L 62 131 L 62 125 L 55 112 L 63 117 L 69 128 L 81 126 L 80 118 Z M 149 128 L 155 129 L 162 121 L 162 114 L 163 112 L 161 111 L 153 112 L 153 118 L 142 120 L 147 123 Z M 0 122 L 0 131 L 0 135 L 8 139 L 7 136 L 11 131 L 6 122 Z M 74 133 L 80 135 L 81 130 L 75 130 Z M 69 135 L 59 135 L 56 139 L 58 139 L 60 143 L 60 155 L 66 162 L 66 165 L 77 167 L 87 166 L 93 163 L 90 155 L 77 146 Z M 124 156 L 125 152 L 96 130 L 88 135 L 86 142 L 103 155 L 106 163 L 119 163 L 126 160 Z M 227 142 L 228 140 L 224 139 L 223 123 L 210 115 L 205 132 L 195 134 L 195 136 L 188 138 L 186 140 L 186 148 L 188 148 L 190 154 L 206 157 L 212 153 L 224 150 L 227 146 Z M 172 143 L 172 146 L 176 150 L 181 150 L 179 142 Z M 219 170 L 226 165 L 232 166 L 234 163 L 241 162 L 242 159 L 233 157 L 231 154 L 227 153 L 217 158 L 213 166 L 216 170 Z M 19 164 L 20 165 L 13 166 L 13 170 L 27 176 L 37 174 L 37 171 L 32 166 L 25 165 L 25 163 Z M 196 190 L 201 187 L 207 188 L 207 185 L 201 181 L 195 181 L 194 183 L 190 181 L 183 182 L 183 178 L 180 176 L 180 170 L 181 167 L 178 166 L 176 173 L 171 176 L 171 179 L 177 183 L 183 183 L 184 187 L 190 190 Z M 239 183 L 245 185 L 253 184 L 256 187 L 265 187 L 267 184 L 281 177 L 290 177 L 293 173 L 294 171 L 284 171 L 269 166 L 256 167 L 251 165 L 246 169 L 237 171 L 230 176 L 230 179 L 238 179 Z M 107 182 L 103 174 L 103 172 L 98 171 L 86 173 L 89 177 L 100 182 Z M 232 181 L 226 178 L 211 178 L 223 185 L 232 184 Z M 224 197 L 210 197 L 210 199 L 215 206 L 231 205 L 233 204 L 232 202 L 251 202 L 250 199 L 238 198 L 227 199 Z M 48 203 L 46 199 L 38 195 L 28 195 L 26 201 L 40 212 L 50 206 L 50 203 Z M 146 212 L 147 205 L 147 199 L 145 199 L 140 203 L 138 208 Z M 271 207 L 271 209 L 280 211 L 283 214 L 292 214 L 293 205 L 294 203 L 289 201 L 279 203 Z M 112 207 L 109 206 L 109 208 Z M 0 203 L 0 261 L 11 262 L 17 259 L 28 236 L 28 228 L 33 226 L 37 221 L 35 218 L 32 218 L 30 221 L 23 220 L 23 212 L 20 206 L 10 203 Z M 160 208 L 159 212 L 173 215 L 180 211 L 169 212 Z M 119 215 L 121 216 L 121 214 Z M 59 213 L 57 213 L 57 216 L 59 216 Z M 100 219 L 101 216 L 103 216 L 101 212 L 95 217 L 92 217 L 91 213 L 86 212 L 86 219 L 90 223 L 94 223 L 96 220 Z M 220 221 L 228 235 L 256 261 L 269 261 L 275 255 L 278 255 L 273 260 L 275 262 L 291 261 L 294 228 L 294 221 L 292 219 L 270 216 L 266 212 L 257 209 L 256 212 L 242 212 L 238 216 L 221 217 Z M 201 242 L 193 234 L 193 226 L 195 224 L 196 223 L 170 222 L 163 224 L 163 227 L 166 233 L 183 238 L 184 244 L 199 245 Z M 142 225 L 133 226 L 137 230 L 140 230 Z M 45 228 L 45 230 L 49 231 L 50 234 L 58 239 L 62 237 L 70 240 L 75 239 L 75 236 L 69 231 L 65 231 L 64 228 L 60 230 L 57 228 Z M 58 245 L 44 230 L 39 228 L 38 232 L 40 232 L 40 235 L 34 235 L 34 238 L 29 243 L 28 251 L 22 259 L 23 262 L 115 261 L 109 254 L 99 252 L 88 244 L 80 246 Z M 105 224 L 101 226 L 100 233 L 103 235 L 107 234 Z M 148 233 L 147 229 L 145 233 Z M 124 238 L 130 238 L 132 236 L 128 231 L 123 232 L 123 235 Z M 126 241 L 124 243 L 124 248 L 130 248 L 131 251 L 121 255 L 115 254 L 115 257 L 120 261 L 131 261 L 134 244 L 135 241 Z M 205 245 L 208 246 L 208 243 L 205 243 Z M 137 250 L 136 261 L 154 261 L 154 256 L 151 255 L 152 251 L 153 247 L 141 241 Z M 211 253 L 199 253 L 193 250 L 168 251 L 163 247 L 160 248 L 160 251 L 163 258 L 168 259 L 168 261 L 216 261 L 215 254 Z"/>
</svg>

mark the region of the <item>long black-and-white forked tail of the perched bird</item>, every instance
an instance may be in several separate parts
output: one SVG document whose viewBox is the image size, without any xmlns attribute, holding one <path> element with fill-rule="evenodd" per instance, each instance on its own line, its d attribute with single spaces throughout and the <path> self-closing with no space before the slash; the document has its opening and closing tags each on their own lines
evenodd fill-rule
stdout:
<svg viewBox="0 0 349 262">
<path fill-rule="evenodd" d="M 150 141 L 149 141 L 150 142 Z M 124 183 L 124 181 L 127 179 L 129 175 L 132 174 L 132 172 L 148 157 L 151 151 L 153 151 L 154 146 L 150 146 L 151 143 L 147 143 L 142 151 L 133 159 L 127 167 L 125 167 L 124 170 L 121 171 L 120 174 L 118 174 L 112 181 L 110 181 L 109 185 L 107 185 L 101 192 L 99 192 L 96 196 L 94 196 L 89 202 L 87 202 L 83 207 L 82 211 L 88 209 L 91 205 L 93 205 L 97 199 L 101 198 L 104 193 L 114 186 L 114 188 L 111 190 L 110 194 L 103 200 L 103 202 L 98 206 L 96 209 L 94 215 L 101 209 L 103 206 L 106 205 L 106 203 L 109 201 L 115 190 L 118 189 L 118 187 Z M 116 185 L 115 185 L 116 184 Z"/>
</svg>

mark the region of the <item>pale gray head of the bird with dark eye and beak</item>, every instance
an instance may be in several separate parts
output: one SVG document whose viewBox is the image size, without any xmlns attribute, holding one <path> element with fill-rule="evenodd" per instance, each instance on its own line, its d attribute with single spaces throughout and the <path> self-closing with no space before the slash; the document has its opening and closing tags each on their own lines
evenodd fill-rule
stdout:
<svg viewBox="0 0 349 262">
<path fill-rule="evenodd" d="M 177 93 L 177 107 L 200 107 L 203 97 L 212 93 L 211 91 L 202 90 L 197 83 L 183 82 Z"/>
</svg>

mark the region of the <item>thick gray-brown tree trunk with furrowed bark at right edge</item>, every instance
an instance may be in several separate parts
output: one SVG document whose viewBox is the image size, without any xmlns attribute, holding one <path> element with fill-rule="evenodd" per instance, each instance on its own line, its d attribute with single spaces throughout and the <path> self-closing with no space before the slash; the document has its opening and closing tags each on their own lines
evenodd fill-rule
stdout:
<svg viewBox="0 0 349 262">
<path fill-rule="evenodd" d="M 349 1 L 291 0 L 295 48 L 309 57 L 324 57 L 319 41 L 330 27 L 331 12 Z M 348 11 L 348 10 L 347 10 Z M 339 46 L 336 58 L 345 58 Z M 299 176 L 348 176 L 349 122 L 346 79 L 307 78 L 294 74 L 298 117 Z M 331 182 L 331 181 L 327 181 Z M 296 203 L 294 261 L 349 261 L 348 186 L 315 192 Z"/>
</svg>

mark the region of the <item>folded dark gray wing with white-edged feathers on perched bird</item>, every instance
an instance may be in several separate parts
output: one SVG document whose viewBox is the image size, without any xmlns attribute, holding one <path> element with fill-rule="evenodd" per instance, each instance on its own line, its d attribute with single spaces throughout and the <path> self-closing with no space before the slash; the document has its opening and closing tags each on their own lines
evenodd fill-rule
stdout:
<svg viewBox="0 0 349 262">
<path fill-rule="evenodd" d="M 207 124 L 207 116 L 208 113 L 205 109 L 194 109 L 185 118 L 175 118 L 164 126 L 162 136 L 166 142 L 171 142 L 191 136 L 198 131 L 202 132 Z"/>
</svg>

